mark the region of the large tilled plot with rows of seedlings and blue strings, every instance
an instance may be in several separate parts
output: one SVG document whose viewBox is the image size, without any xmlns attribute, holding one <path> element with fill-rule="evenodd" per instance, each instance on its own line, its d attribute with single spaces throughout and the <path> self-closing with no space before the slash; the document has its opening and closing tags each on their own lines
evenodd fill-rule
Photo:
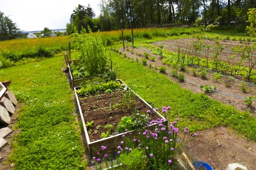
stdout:
<svg viewBox="0 0 256 170">
<path fill-rule="evenodd" d="M 206 68 L 205 54 L 204 52 L 201 52 L 202 59 L 200 59 L 201 63 L 203 63 L 202 65 L 197 66 L 197 63 L 189 65 L 185 62 L 183 69 L 181 69 L 180 65 L 178 68 L 174 68 L 173 63 L 175 63 L 175 59 L 173 59 L 174 57 L 172 57 L 172 55 L 177 55 L 178 49 L 180 49 L 180 54 L 186 53 L 188 55 L 189 50 L 186 51 L 186 49 L 189 48 L 188 45 L 190 42 L 187 41 L 189 40 L 166 40 L 164 42 L 154 42 L 152 44 L 142 43 L 138 44 L 136 48 L 128 47 L 125 48 L 125 51 L 120 48 L 119 51 L 123 51 L 123 55 L 128 59 L 143 62 L 144 65 L 166 74 L 172 81 L 180 82 L 182 88 L 187 88 L 195 93 L 203 93 L 205 91 L 205 93 L 212 99 L 218 100 L 224 104 L 233 105 L 240 111 L 249 111 L 250 114 L 256 116 L 256 86 L 254 84 L 256 76 L 255 66 L 252 69 L 251 78 L 248 80 L 245 77 L 247 71 L 243 70 L 246 65 L 248 65 L 248 60 L 243 60 L 244 62 L 240 65 L 240 71 L 236 71 L 236 73 L 233 73 L 232 75 L 226 71 L 225 74 L 221 71 L 214 71 Z M 172 45 L 169 44 L 170 42 L 172 42 Z M 182 42 L 186 43 L 182 44 Z M 207 40 L 207 43 L 209 45 L 210 43 L 213 44 L 214 40 Z M 231 50 L 231 44 L 233 44 L 233 46 L 238 44 L 242 45 L 241 42 L 236 41 L 220 41 L 220 43 L 222 45 L 230 44 L 226 51 Z M 177 48 L 177 44 L 180 44 L 180 48 Z M 194 54 L 192 54 L 192 52 Z M 190 55 L 195 55 L 195 51 L 192 52 Z M 212 58 L 213 51 L 209 51 L 208 54 Z M 222 57 L 218 57 L 219 63 L 224 62 L 224 60 L 222 60 L 225 59 L 223 56 L 228 55 L 230 57 L 230 54 L 230 52 L 225 52 L 224 50 L 221 51 Z M 235 59 L 237 58 L 239 58 L 239 55 L 235 57 Z M 230 62 L 230 65 L 233 65 L 233 68 L 238 69 L 239 65 L 236 65 L 235 59 L 234 63 Z M 163 68 L 166 70 L 161 70 Z"/>
</svg>

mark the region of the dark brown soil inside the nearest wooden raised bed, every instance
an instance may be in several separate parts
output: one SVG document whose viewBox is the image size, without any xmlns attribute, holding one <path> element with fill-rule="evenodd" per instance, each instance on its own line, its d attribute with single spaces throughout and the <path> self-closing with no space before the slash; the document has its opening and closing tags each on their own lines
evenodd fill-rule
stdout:
<svg viewBox="0 0 256 170">
<path fill-rule="evenodd" d="M 144 102 L 135 97 L 132 107 L 127 110 L 125 105 L 121 105 L 121 96 L 126 91 L 116 91 L 112 94 L 100 93 L 93 96 L 79 96 L 81 110 L 84 116 L 84 122 L 94 121 L 91 127 L 87 127 L 90 142 L 102 139 L 101 134 L 107 132 L 104 126 L 107 124 L 115 125 L 121 121 L 123 116 L 131 116 L 132 113 L 146 113 L 151 108 Z M 154 114 L 149 115 L 150 119 L 157 119 Z M 111 128 L 111 135 L 114 128 Z"/>
</svg>

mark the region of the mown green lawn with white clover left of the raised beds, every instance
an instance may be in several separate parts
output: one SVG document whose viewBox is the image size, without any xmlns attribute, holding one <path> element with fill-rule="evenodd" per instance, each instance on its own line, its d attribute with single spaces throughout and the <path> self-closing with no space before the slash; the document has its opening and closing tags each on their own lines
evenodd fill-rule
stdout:
<svg viewBox="0 0 256 170">
<path fill-rule="evenodd" d="M 1 69 L 0 81 L 24 106 L 18 111 L 10 162 L 18 170 L 84 169 L 84 154 L 63 55 L 26 65 Z M 52 64 L 54 63 L 54 64 Z"/>
</svg>

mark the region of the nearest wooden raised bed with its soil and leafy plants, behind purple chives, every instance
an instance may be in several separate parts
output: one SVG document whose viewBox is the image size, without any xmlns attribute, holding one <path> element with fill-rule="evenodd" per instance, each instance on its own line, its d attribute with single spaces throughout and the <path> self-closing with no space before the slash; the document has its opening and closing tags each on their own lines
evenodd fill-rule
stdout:
<svg viewBox="0 0 256 170">
<path fill-rule="evenodd" d="M 105 92 L 90 95 L 81 95 L 83 90 L 75 88 L 86 143 L 93 155 L 102 151 L 102 145 L 108 150 L 116 147 L 115 143 L 122 140 L 125 130 L 136 136 L 136 129 L 146 126 L 150 120 L 165 120 L 121 80 L 116 82 L 119 82 L 117 86 L 113 81 L 102 83 L 109 84 Z"/>
</svg>

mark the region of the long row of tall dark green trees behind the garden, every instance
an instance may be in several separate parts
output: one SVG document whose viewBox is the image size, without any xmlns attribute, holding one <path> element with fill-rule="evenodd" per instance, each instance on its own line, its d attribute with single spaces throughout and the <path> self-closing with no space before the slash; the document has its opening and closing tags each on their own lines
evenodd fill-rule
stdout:
<svg viewBox="0 0 256 170">
<path fill-rule="evenodd" d="M 95 18 L 90 5 L 73 10 L 67 32 L 74 27 L 90 26 L 92 31 L 120 28 L 145 28 L 159 24 L 207 25 L 218 19 L 219 25 L 246 24 L 248 9 L 256 8 L 256 0 L 101 0 L 101 14 Z"/>
</svg>

